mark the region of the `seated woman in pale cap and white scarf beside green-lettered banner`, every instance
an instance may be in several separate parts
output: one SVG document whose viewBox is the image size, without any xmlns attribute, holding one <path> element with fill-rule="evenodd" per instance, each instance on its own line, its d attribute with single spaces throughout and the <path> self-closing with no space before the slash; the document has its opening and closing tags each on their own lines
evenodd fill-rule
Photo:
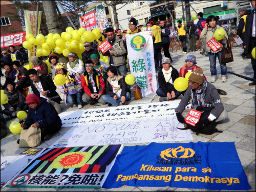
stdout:
<svg viewBox="0 0 256 192">
<path fill-rule="evenodd" d="M 160 96 L 158 101 L 168 101 L 178 98 L 182 92 L 174 88 L 174 81 L 179 77 L 177 69 L 170 65 L 170 59 L 167 57 L 162 58 L 163 69 L 158 73 L 159 88 L 157 95 Z"/>
</svg>

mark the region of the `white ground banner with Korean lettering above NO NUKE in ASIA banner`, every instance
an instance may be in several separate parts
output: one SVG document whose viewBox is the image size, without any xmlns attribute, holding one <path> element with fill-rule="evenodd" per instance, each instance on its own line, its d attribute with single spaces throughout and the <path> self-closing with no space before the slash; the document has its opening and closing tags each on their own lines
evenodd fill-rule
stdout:
<svg viewBox="0 0 256 192">
<path fill-rule="evenodd" d="M 104 121 L 117 120 L 140 120 L 141 118 L 156 118 L 176 116 L 175 109 L 180 101 L 164 101 L 146 104 L 120 105 L 110 108 L 89 109 L 79 111 L 69 111 L 60 113 L 59 117 L 62 127 L 74 126 L 76 124 L 97 125 Z M 190 108 L 190 104 L 187 105 Z"/>
</svg>

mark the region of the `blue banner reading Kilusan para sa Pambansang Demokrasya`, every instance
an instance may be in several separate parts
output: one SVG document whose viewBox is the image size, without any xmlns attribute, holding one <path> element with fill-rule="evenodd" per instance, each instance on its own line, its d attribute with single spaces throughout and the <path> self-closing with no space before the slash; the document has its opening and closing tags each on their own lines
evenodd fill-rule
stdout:
<svg viewBox="0 0 256 192">
<path fill-rule="evenodd" d="M 125 146 L 102 187 L 248 190 L 234 142 L 151 143 Z"/>
</svg>

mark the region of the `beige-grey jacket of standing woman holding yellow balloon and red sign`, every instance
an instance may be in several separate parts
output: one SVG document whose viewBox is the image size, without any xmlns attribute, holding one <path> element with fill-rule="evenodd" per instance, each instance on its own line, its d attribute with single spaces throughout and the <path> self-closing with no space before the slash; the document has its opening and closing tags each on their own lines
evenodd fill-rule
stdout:
<svg viewBox="0 0 256 192">
<path fill-rule="evenodd" d="M 218 25 L 216 25 L 216 27 L 217 27 L 217 29 L 223 29 L 222 27 L 220 27 L 220 26 L 218 26 Z M 200 35 L 200 39 L 205 39 L 205 38 L 206 38 L 206 42 L 208 42 L 210 39 L 212 39 L 212 38 L 214 37 L 214 32 L 210 31 L 209 29 L 210 29 L 210 28 L 208 28 L 208 29 L 207 29 L 207 28 L 204 28 L 204 29 L 203 29 L 203 31 L 202 31 L 202 33 L 201 33 L 201 35 Z M 217 29 L 216 29 L 216 30 L 217 30 Z M 226 44 L 227 44 L 228 36 L 227 36 L 226 31 L 225 31 L 225 37 L 226 37 L 226 38 L 223 38 L 222 41 L 220 42 L 222 45 L 226 45 Z M 217 50 L 216 52 L 214 52 L 214 51 L 212 51 L 212 50 L 210 49 L 209 46 L 206 45 L 206 51 L 207 51 L 207 52 L 210 52 L 210 51 L 211 51 L 211 53 L 218 53 L 218 52 L 222 51 L 222 47 L 221 47 L 219 50 Z"/>
</svg>

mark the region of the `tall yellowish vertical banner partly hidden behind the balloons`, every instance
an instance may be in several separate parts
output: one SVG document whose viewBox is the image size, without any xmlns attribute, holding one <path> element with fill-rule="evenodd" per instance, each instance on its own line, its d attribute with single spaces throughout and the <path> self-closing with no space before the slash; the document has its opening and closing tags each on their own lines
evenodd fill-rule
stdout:
<svg viewBox="0 0 256 192">
<path fill-rule="evenodd" d="M 36 11 L 24 11 L 24 17 L 25 17 L 25 25 L 26 25 L 26 33 L 31 33 L 33 36 L 39 34 L 40 24 L 41 24 L 41 15 L 42 12 L 38 12 L 38 26 L 37 26 L 37 33 L 36 33 Z M 30 58 L 34 55 L 34 47 L 28 49 L 28 55 L 29 55 L 29 61 Z M 27 69 L 32 68 L 32 62 L 29 62 L 29 67 Z"/>
</svg>

